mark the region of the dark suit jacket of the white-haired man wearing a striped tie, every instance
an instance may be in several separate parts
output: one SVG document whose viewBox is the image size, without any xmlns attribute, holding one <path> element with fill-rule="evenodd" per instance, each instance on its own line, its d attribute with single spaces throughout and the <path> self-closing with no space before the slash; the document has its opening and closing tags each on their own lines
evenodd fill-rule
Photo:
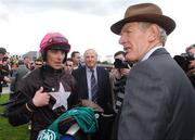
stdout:
<svg viewBox="0 0 195 140">
<path fill-rule="evenodd" d="M 86 66 L 81 68 L 77 68 L 73 71 L 73 76 L 76 79 L 76 88 L 73 91 L 74 103 L 77 104 L 80 99 L 89 99 L 88 98 L 88 84 L 87 84 L 87 75 L 86 75 Z M 96 67 L 98 75 L 98 104 L 103 107 L 105 113 L 109 113 L 112 107 L 112 97 L 110 97 L 110 82 L 109 75 L 106 69 L 103 67 Z"/>
</svg>

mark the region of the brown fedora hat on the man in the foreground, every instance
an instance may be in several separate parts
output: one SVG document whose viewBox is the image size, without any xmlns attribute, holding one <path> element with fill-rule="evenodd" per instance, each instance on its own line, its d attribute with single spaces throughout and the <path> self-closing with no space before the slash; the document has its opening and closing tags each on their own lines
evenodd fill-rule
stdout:
<svg viewBox="0 0 195 140">
<path fill-rule="evenodd" d="M 176 28 L 174 21 L 166 15 L 162 15 L 161 9 L 153 3 L 141 3 L 129 7 L 126 11 L 123 20 L 113 24 L 110 30 L 119 35 L 122 26 L 130 22 L 155 23 L 162 27 L 167 35 Z"/>
</svg>

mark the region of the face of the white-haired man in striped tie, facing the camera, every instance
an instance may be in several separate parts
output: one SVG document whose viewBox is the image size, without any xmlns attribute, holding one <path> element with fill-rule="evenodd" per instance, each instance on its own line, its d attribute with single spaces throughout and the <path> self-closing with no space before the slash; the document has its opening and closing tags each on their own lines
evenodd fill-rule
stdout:
<svg viewBox="0 0 195 140">
<path fill-rule="evenodd" d="M 96 65 L 96 61 L 98 61 L 96 52 L 94 50 L 86 51 L 84 61 L 86 61 L 86 66 L 88 68 L 94 68 Z"/>
</svg>

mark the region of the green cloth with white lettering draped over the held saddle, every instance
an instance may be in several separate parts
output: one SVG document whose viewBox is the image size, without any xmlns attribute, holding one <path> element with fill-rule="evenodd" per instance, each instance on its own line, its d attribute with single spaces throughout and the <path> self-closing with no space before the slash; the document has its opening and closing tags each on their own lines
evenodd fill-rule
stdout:
<svg viewBox="0 0 195 140">
<path fill-rule="evenodd" d="M 95 132 L 99 128 L 94 111 L 91 107 L 75 107 L 57 117 L 48 129 L 42 130 L 37 140 L 60 140 L 58 123 L 67 117 L 74 117 L 80 129 L 86 133 Z"/>
</svg>

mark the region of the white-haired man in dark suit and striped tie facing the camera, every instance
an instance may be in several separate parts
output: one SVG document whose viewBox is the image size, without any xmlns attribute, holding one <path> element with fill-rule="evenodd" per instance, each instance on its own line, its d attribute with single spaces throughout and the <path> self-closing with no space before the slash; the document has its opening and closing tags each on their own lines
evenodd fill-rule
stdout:
<svg viewBox="0 0 195 140">
<path fill-rule="evenodd" d="M 110 82 L 108 72 L 103 67 L 96 66 L 98 53 L 93 49 L 86 50 L 84 54 L 86 66 L 73 71 L 73 76 L 76 79 L 76 86 L 73 91 L 74 103 L 82 105 L 92 104 L 99 112 L 105 114 L 110 113 L 112 97 Z M 109 120 L 101 120 L 99 131 L 92 136 L 92 140 L 109 140 L 110 136 Z"/>
</svg>

